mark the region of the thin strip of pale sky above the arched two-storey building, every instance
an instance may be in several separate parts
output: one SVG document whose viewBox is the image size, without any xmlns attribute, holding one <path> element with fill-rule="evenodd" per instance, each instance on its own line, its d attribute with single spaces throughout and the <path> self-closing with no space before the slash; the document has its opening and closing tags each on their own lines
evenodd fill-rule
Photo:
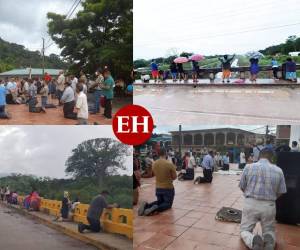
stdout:
<svg viewBox="0 0 300 250">
<path fill-rule="evenodd" d="M 214 128 L 238 128 L 246 131 L 264 134 L 266 133 L 266 125 L 239 125 L 239 126 L 231 126 L 231 125 L 193 125 L 193 126 L 185 126 L 182 125 L 182 130 L 198 130 L 198 129 L 214 129 Z M 155 128 L 155 133 L 169 133 L 170 131 L 178 131 L 179 125 L 174 126 L 158 126 Z M 271 133 L 276 133 L 276 126 L 269 126 L 269 130 Z"/>
</svg>

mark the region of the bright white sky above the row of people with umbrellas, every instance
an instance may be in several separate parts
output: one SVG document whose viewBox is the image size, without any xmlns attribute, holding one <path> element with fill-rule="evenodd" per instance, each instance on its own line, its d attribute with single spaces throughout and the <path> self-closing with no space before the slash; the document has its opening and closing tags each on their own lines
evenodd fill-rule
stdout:
<svg viewBox="0 0 300 250">
<path fill-rule="evenodd" d="M 264 49 L 300 36 L 299 16 L 299 0 L 134 0 L 134 59 Z"/>
</svg>

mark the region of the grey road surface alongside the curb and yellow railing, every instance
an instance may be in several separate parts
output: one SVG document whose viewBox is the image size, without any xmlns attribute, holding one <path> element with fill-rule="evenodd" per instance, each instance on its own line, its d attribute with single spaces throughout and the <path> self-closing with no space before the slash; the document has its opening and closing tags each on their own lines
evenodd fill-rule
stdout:
<svg viewBox="0 0 300 250">
<path fill-rule="evenodd" d="M 0 205 L 0 249 L 6 250 L 95 250 Z"/>
</svg>

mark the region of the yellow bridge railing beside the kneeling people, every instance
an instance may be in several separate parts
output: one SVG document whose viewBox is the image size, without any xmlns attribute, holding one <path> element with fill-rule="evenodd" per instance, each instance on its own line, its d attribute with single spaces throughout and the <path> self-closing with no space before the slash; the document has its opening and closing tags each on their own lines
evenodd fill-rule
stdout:
<svg viewBox="0 0 300 250">
<path fill-rule="evenodd" d="M 23 204 L 24 196 L 18 197 L 18 204 Z M 40 211 L 59 216 L 61 209 L 61 201 L 41 199 Z M 88 204 L 78 204 L 73 213 L 72 220 L 74 222 L 82 222 L 88 224 L 86 219 Z M 100 218 L 104 231 L 109 233 L 117 233 L 126 235 L 129 239 L 133 238 L 133 211 L 132 209 L 113 208 L 105 209 Z"/>
</svg>

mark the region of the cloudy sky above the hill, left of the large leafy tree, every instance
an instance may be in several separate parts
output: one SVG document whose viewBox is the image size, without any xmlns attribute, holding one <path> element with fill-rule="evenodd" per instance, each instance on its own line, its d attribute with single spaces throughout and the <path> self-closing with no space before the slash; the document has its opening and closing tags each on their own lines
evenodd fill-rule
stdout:
<svg viewBox="0 0 300 250">
<path fill-rule="evenodd" d="M 47 34 L 47 13 L 66 14 L 73 2 L 74 0 L 0 0 L 0 37 L 29 50 L 40 51 L 42 37 L 45 37 L 46 45 L 52 43 Z M 76 9 L 72 17 L 80 8 Z M 60 49 L 53 44 L 45 53 L 60 54 Z"/>
</svg>

